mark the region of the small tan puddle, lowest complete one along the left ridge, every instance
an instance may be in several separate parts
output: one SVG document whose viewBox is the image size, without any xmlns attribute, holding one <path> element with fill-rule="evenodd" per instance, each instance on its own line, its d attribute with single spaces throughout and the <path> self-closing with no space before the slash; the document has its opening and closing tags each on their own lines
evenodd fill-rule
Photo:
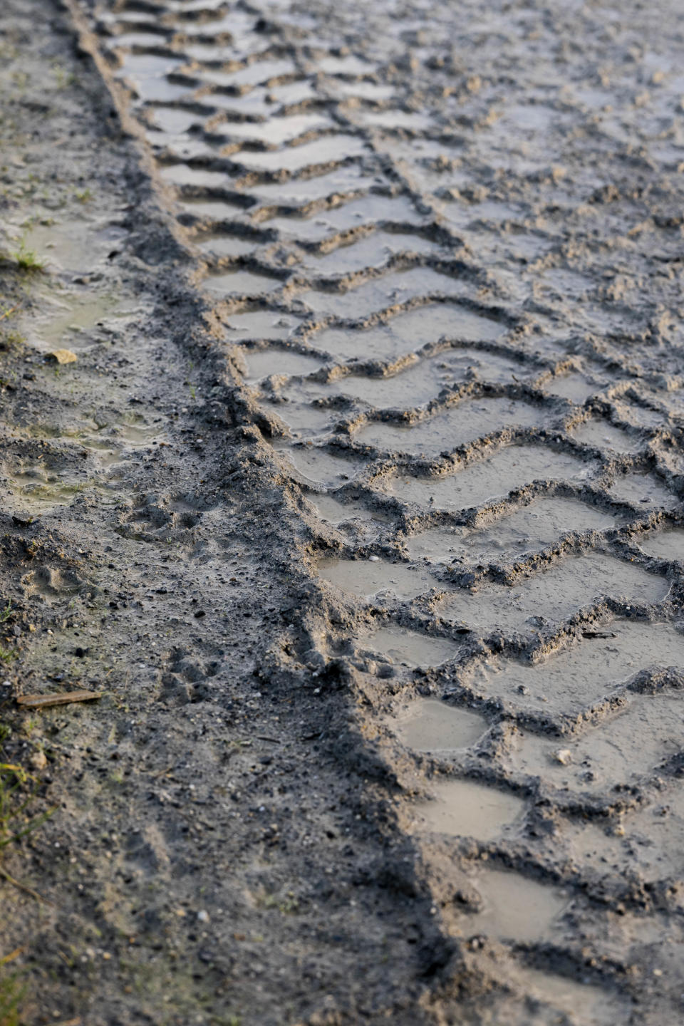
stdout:
<svg viewBox="0 0 684 1026">
<path fill-rule="evenodd" d="M 488 869 L 473 881 L 482 908 L 454 920 L 465 937 L 483 934 L 501 941 L 530 943 L 548 936 L 569 899 L 559 887 L 537 883 L 519 873 Z"/>
</svg>

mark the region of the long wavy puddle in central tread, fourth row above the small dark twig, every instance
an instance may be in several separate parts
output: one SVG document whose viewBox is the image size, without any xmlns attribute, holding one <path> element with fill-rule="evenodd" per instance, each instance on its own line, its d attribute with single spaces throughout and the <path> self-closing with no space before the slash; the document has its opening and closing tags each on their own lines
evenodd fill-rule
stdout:
<svg viewBox="0 0 684 1026">
<path fill-rule="evenodd" d="M 413 426 L 369 422 L 356 433 L 362 445 L 412 456 L 439 456 L 504 428 L 548 425 L 549 411 L 516 399 L 466 399 Z"/>
</svg>

